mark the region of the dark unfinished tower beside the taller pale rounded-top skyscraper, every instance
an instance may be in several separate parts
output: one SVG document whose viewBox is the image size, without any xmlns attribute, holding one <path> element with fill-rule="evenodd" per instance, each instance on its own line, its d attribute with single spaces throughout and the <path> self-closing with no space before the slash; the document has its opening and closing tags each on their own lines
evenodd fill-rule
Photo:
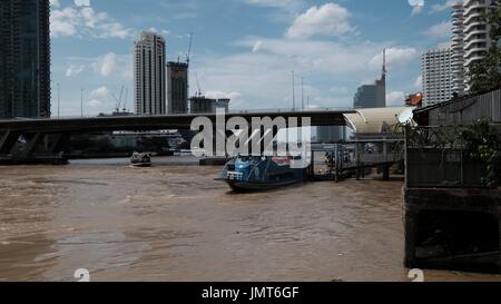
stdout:
<svg viewBox="0 0 501 304">
<path fill-rule="evenodd" d="M 188 63 L 167 62 L 168 114 L 188 112 Z"/>
</svg>

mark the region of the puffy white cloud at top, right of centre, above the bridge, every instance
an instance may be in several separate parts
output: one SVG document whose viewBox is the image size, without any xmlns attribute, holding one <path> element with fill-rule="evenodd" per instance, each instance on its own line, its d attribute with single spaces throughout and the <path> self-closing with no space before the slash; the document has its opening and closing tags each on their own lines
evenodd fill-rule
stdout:
<svg viewBox="0 0 501 304">
<path fill-rule="evenodd" d="M 336 3 L 312 7 L 298 16 L 287 30 L 288 38 L 306 39 L 312 36 L 342 36 L 353 32 L 347 9 Z"/>
</svg>

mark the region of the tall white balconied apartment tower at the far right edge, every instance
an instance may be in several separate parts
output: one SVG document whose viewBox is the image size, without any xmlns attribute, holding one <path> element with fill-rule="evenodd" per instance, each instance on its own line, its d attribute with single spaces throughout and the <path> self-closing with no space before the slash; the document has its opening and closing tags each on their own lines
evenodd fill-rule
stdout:
<svg viewBox="0 0 501 304">
<path fill-rule="evenodd" d="M 453 88 L 459 94 L 468 90 L 464 73 L 469 67 L 483 59 L 492 47 L 489 35 L 491 27 L 485 22 L 484 14 L 499 3 L 499 0 L 464 0 L 453 6 Z"/>
</svg>

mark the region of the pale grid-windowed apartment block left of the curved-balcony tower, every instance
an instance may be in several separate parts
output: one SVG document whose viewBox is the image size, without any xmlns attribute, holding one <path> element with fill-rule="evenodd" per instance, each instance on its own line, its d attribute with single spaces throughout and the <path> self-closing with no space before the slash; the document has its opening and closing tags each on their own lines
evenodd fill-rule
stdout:
<svg viewBox="0 0 501 304">
<path fill-rule="evenodd" d="M 451 49 L 426 51 L 421 57 L 423 102 L 425 106 L 452 99 L 453 69 Z"/>
</svg>

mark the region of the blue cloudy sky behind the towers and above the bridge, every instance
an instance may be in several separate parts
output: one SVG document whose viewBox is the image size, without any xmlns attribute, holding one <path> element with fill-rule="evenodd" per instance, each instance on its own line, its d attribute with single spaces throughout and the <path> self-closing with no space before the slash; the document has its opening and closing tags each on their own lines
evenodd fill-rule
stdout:
<svg viewBox="0 0 501 304">
<path fill-rule="evenodd" d="M 422 89 L 421 53 L 450 46 L 454 1 L 51 0 L 52 115 L 58 100 L 60 116 L 80 115 L 82 89 L 84 115 L 111 112 L 121 87 L 132 110 L 143 30 L 165 37 L 169 61 L 186 60 L 193 32 L 190 95 L 234 110 L 292 108 L 293 71 L 297 107 L 351 107 L 381 77 L 383 49 L 387 104 L 401 106 Z"/>
</svg>

